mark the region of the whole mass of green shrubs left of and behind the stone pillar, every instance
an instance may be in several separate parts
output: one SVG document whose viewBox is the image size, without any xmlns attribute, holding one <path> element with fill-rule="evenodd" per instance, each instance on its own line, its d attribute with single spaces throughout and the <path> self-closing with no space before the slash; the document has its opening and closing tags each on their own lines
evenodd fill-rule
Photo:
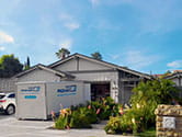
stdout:
<svg viewBox="0 0 182 137">
<path fill-rule="evenodd" d="M 125 110 L 122 116 L 111 117 L 105 132 L 136 134 L 155 127 L 157 105 L 171 103 L 175 92 L 170 80 L 140 82 L 130 98 L 132 109 Z"/>
</svg>

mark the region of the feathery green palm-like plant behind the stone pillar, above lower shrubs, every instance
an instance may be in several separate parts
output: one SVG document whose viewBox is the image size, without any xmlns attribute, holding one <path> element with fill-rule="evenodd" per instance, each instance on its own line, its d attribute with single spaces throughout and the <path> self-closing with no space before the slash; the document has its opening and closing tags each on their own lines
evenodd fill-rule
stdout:
<svg viewBox="0 0 182 137">
<path fill-rule="evenodd" d="M 178 94 L 174 82 L 167 79 L 140 82 L 133 91 L 133 104 L 141 104 L 141 102 L 147 103 L 152 100 L 157 102 L 157 104 L 169 104 Z"/>
</svg>

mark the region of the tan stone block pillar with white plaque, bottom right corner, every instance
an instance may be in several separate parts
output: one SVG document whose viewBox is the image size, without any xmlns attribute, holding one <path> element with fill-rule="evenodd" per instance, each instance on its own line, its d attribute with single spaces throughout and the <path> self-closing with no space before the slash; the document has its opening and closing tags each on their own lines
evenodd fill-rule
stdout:
<svg viewBox="0 0 182 137">
<path fill-rule="evenodd" d="M 182 137 L 182 106 L 159 105 L 155 113 L 157 137 Z M 174 117 L 174 121 L 169 121 L 169 117 Z"/>
</svg>

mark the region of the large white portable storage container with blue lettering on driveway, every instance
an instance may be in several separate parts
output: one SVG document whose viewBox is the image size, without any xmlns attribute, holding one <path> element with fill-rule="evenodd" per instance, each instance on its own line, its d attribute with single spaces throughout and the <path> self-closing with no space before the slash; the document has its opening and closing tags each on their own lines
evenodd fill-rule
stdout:
<svg viewBox="0 0 182 137">
<path fill-rule="evenodd" d="M 16 118 L 47 119 L 52 111 L 58 113 L 90 101 L 90 84 L 82 81 L 16 83 Z"/>
</svg>

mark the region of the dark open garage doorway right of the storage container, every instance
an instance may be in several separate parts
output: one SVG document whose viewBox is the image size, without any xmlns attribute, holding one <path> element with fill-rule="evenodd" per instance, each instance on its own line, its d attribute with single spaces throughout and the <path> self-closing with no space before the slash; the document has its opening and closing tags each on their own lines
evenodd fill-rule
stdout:
<svg viewBox="0 0 182 137">
<path fill-rule="evenodd" d="M 110 96 L 110 82 L 91 83 L 91 101 Z"/>
</svg>

